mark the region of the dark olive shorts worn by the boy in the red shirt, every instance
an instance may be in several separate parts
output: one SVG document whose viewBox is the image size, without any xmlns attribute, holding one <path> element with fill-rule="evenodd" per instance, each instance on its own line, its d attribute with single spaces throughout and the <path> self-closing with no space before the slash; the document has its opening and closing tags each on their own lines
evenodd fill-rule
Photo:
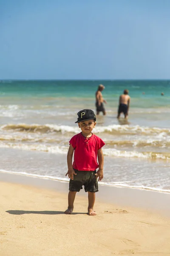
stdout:
<svg viewBox="0 0 170 256">
<path fill-rule="evenodd" d="M 85 186 L 85 192 L 98 192 L 98 181 L 95 171 L 78 171 L 74 170 L 77 175 L 69 182 L 69 190 L 79 192 L 82 186 Z"/>
</svg>

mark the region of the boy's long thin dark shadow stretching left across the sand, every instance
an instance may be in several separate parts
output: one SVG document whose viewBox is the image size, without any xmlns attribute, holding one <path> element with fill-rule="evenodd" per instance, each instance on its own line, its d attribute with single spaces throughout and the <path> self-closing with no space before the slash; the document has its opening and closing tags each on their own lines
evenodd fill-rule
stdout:
<svg viewBox="0 0 170 256">
<path fill-rule="evenodd" d="M 49 214 L 49 215 L 57 215 L 57 214 L 64 214 L 64 212 L 60 211 L 23 211 L 23 210 L 8 210 L 6 211 L 9 214 L 14 214 L 14 215 L 22 215 L 22 214 Z M 87 212 L 73 212 L 72 215 L 74 214 L 87 214 Z M 69 214 L 70 215 L 70 214 Z"/>
</svg>

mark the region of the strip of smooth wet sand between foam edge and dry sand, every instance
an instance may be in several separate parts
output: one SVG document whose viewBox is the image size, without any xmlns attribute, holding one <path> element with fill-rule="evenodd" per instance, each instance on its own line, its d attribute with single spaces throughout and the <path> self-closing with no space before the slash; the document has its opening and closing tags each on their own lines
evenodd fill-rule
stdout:
<svg viewBox="0 0 170 256">
<path fill-rule="evenodd" d="M 0 172 L 0 182 L 17 183 L 34 188 L 53 190 L 65 195 L 68 194 L 68 182 L 66 181 Z M 87 197 L 84 188 L 77 195 L 83 198 Z M 158 214 L 170 217 L 170 194 L 166 192 L 106 186 L 100 185 L 99 182 L 99 192 L 96 193 L 96 199 L 101 203 L 107 202 L 119 207 L 134 207 L 150 212 L 156 211 Z"/>
</svg>

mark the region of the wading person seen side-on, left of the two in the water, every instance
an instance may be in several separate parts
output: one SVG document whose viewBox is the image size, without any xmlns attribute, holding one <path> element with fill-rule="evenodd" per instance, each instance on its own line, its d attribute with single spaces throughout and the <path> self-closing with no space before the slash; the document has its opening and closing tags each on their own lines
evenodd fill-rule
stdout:
<svg viewBox="0 0 170 256">
<path fill-rule="evenodd" d="M 103 105 L 103 102 L 107 104 L 107 102 L 103 99 L 102 96 L 102 90 L 105 89 L 105 86 L 102 84 L 99 84 L 98 90 L 96 91 L 96 114 L 99 115 L 99 112 L 103 112 L 103 115 L 105 116 L 106 111 Z"/>
</svg>

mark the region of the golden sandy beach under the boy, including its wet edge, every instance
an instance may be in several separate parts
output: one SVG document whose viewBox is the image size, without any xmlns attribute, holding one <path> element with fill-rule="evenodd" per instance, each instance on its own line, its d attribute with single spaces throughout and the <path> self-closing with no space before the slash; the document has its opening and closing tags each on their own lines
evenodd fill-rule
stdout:
<svg viewBox="0 0 170 256">
<path fill-rule="evenodd" d="M 85 192 L 65 215 L 68 183 L 3 173 L 0 180 L 1 256 L 170 255 L 169 194 L 99 186 L 96 216 L 87 215 Z"/>
</svg>

